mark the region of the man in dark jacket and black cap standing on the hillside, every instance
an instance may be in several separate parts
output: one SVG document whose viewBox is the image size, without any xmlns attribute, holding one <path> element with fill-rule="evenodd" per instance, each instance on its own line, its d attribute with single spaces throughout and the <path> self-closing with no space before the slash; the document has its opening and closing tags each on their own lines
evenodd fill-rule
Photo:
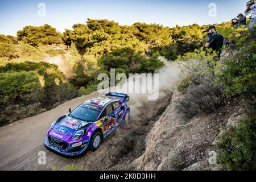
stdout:
<svg viewBox="0 0 256 182">
<path fill-rule="evenodd" d="M 204 32 L 207 32 L 207 35 L 209 37 L 208 42 L 205 44 L 204 47 L 212 48 L 213 51 L 216 51 L 218 56 L 214 57 L 214 61 L 218 61 L 221 56 L 221 48 L 224 44 L 224 37 L 216 32 L 215 26 L 209 26 Z"/>
</svg>

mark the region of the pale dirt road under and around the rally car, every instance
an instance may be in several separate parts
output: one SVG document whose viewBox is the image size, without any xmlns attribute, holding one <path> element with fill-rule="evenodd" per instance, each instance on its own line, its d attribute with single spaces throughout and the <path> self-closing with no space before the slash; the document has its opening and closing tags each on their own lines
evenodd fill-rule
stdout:
<svg viewBox="0 0 256 182">
<path fill-rule="evenodd" d="M 0 128 L 0 169 L 1 170 L 51 170 L 52 167 L 59 169 L 67 164 L 75 164 L 88 169 L 109 169 L 117 163 L 122 163 L 122 158 L 113 159 L 111 156 L 117 154 L 118 144 L 121 140 L 133 132 L 142 122 L 151 118 L 153 123 L 159 110 L 163 110 L 170 102 L 171 92 L 161 93 L 158 101 L 147 101 L 143 106 L 135 106 L 135 101 L 131 100 L 131 107 L 137 107 L 139 116 L 131 118 L 130 123 L 119 127 L 110 134 L 101 144 L 97 151 L 88 151 L 84 156 L 77 159 L 64 158 L 48 151 L 43 145 L 43 139 L 46 137 L 48 127 L 60 115 L 67 113 L 68 109 L 75 108 L 82 101 L 92 97 L 100 96 L 93 92 L 88 96 L 75 98 L 72 101 L 49 110 L 45 113 L 22 119 L 14 123 L 13 126 L 4 126 Z M 135 108 L 134 108 L 135 109 Z M 149 127 L 148 127 L 149 129 Z M 145 134 L 146 137 L 146 133 Z M 38 164 L 39 151 L 46 152 L 46 165 Z M 115 157 L 114 157 L 115 158 Z"/>
</svg>

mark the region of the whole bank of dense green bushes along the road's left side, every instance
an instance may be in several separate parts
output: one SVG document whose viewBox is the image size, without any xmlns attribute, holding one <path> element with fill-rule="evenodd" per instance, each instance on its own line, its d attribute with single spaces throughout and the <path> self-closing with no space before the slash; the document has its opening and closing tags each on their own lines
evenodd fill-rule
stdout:
<svg viewBox="0 0 256 182">
<path fill-rule="evenodd" d="M 57 65 L 7 63 L 0 67 L 0 126 L 39 114 L 75 95 L 76 90 Z"/>
</svg>

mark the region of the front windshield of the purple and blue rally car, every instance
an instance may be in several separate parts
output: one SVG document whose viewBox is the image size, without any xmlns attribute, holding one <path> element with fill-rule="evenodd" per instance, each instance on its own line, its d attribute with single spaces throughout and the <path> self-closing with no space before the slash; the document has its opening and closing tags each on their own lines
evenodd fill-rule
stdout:
<svg viewBox="0 0 256 182">
<path fill-rule="evenodd" d="M 100 110 L 79 106 L 70 113 L 70 116 L 84 121 L 94 122 L 99 114 Z"/>
</svg>

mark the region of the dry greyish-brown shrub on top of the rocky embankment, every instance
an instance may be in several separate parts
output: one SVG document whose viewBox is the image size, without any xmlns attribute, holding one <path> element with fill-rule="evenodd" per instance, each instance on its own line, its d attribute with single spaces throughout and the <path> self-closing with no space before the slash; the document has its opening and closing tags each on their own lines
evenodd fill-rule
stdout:
<svg viewBox="0 0 256 182">
<path fill-rule="evenodd" d="M 210 113 L 216 110 L 221 103 L 220 89 L 206 82 L 189 89 L 177 104 L 176 109 L 185 118 L 192 118 L 196 114 Z"/>
</svg>

